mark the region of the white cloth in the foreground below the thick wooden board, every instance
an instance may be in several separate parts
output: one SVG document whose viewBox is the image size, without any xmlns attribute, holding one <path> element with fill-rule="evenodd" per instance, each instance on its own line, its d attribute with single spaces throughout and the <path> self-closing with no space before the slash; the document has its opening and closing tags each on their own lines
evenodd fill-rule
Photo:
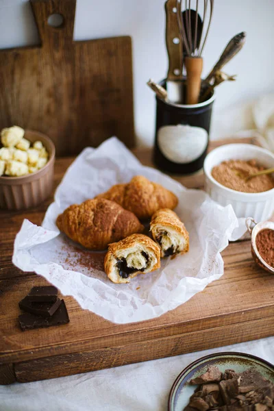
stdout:
<svg viewBox="0 0 274 411">
<path fill-rule="evenodd" d="M 251 353 L 274 363 L 274 337 L 70 377 L 0 386 L 0 411 L 166 411 L 169 391 L 182 369 L 217 351 Z"/>
</svg>

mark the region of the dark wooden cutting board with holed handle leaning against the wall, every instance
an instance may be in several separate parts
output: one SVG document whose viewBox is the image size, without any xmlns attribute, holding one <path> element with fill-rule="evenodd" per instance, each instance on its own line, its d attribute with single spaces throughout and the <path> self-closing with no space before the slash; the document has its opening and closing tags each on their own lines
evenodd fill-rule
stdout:
<svg viewBox="0 0 274 411">
<path fill-rule="evenodd" d="M 97 147 L 113 135 L 134 147 L 131 38 L 75 42 L 76 0 L 31 4 L 41 44 L 0 50 L 0 129 L 45 133 L 57 155 Z M 61 27 L 47 23 L 55 13 L 64 17 Z"/>
</svg>

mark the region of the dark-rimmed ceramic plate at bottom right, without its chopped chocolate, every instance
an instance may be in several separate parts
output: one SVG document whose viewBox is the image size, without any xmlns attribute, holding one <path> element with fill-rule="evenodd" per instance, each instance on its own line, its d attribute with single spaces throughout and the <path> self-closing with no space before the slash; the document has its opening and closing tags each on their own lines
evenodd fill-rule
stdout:
<svg viewBox="0 0 274 411">
<path fill-rule="evenodd" d="M 169 395 L 169 411 L 184 410 L 188 405 L 190 396 L 197 388 L 197 386 L 189 385 L 190 379 L 206 373 L 209 365 L 216 365 L 222 372 L 226 369 L 234 369 L 236 373 L 241 373 L 253 367 L 274 384 L 274 366 L 270 362 L 245 353 L 212 354 L 192 362 L 178 375 Z"/>
</svg>

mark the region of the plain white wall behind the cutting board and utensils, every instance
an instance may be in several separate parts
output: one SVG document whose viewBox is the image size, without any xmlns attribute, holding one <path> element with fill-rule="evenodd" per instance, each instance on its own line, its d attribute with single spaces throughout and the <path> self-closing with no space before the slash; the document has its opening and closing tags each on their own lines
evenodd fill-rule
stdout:
<svg viewBox="0 0 274 411">
<path fill-rule="evenodd" d="M 245 31 L 247 43 L 225 66 L 224 71 L 238 79 L 217 90 L 212 138 L 251 127 L 251 119 L 242 121 L 241 113 L 253 99 L 274 91 L 273 18 L 273 0 L 215 0 L 203 74 L 232 36 Z M 167 70 L 164 25 L 164 0 L 77 0 L 75 40 L 127 34 L 133 38 L 136 134 L 145 145 L 153 144 L 155 121 L 153 92 L 146 82 L 149 77 L 162 79 Z M 38 41 L 28 1 L 0 0 L 0 49 Z"/>
</svg>

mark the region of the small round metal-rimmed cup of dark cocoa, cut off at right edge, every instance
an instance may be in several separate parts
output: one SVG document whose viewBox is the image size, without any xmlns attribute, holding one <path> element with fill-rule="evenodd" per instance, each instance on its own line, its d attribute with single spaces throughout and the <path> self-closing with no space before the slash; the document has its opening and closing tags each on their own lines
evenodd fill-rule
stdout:
<svg viewBox="0 0 274 411">
<path fill-rule="evenodd" d="M 262 269 L 274 274 L 274 215 L 258 224 L 248 217 L 245 224 L 251 234 L 253 260 Z"/>
</svg>

